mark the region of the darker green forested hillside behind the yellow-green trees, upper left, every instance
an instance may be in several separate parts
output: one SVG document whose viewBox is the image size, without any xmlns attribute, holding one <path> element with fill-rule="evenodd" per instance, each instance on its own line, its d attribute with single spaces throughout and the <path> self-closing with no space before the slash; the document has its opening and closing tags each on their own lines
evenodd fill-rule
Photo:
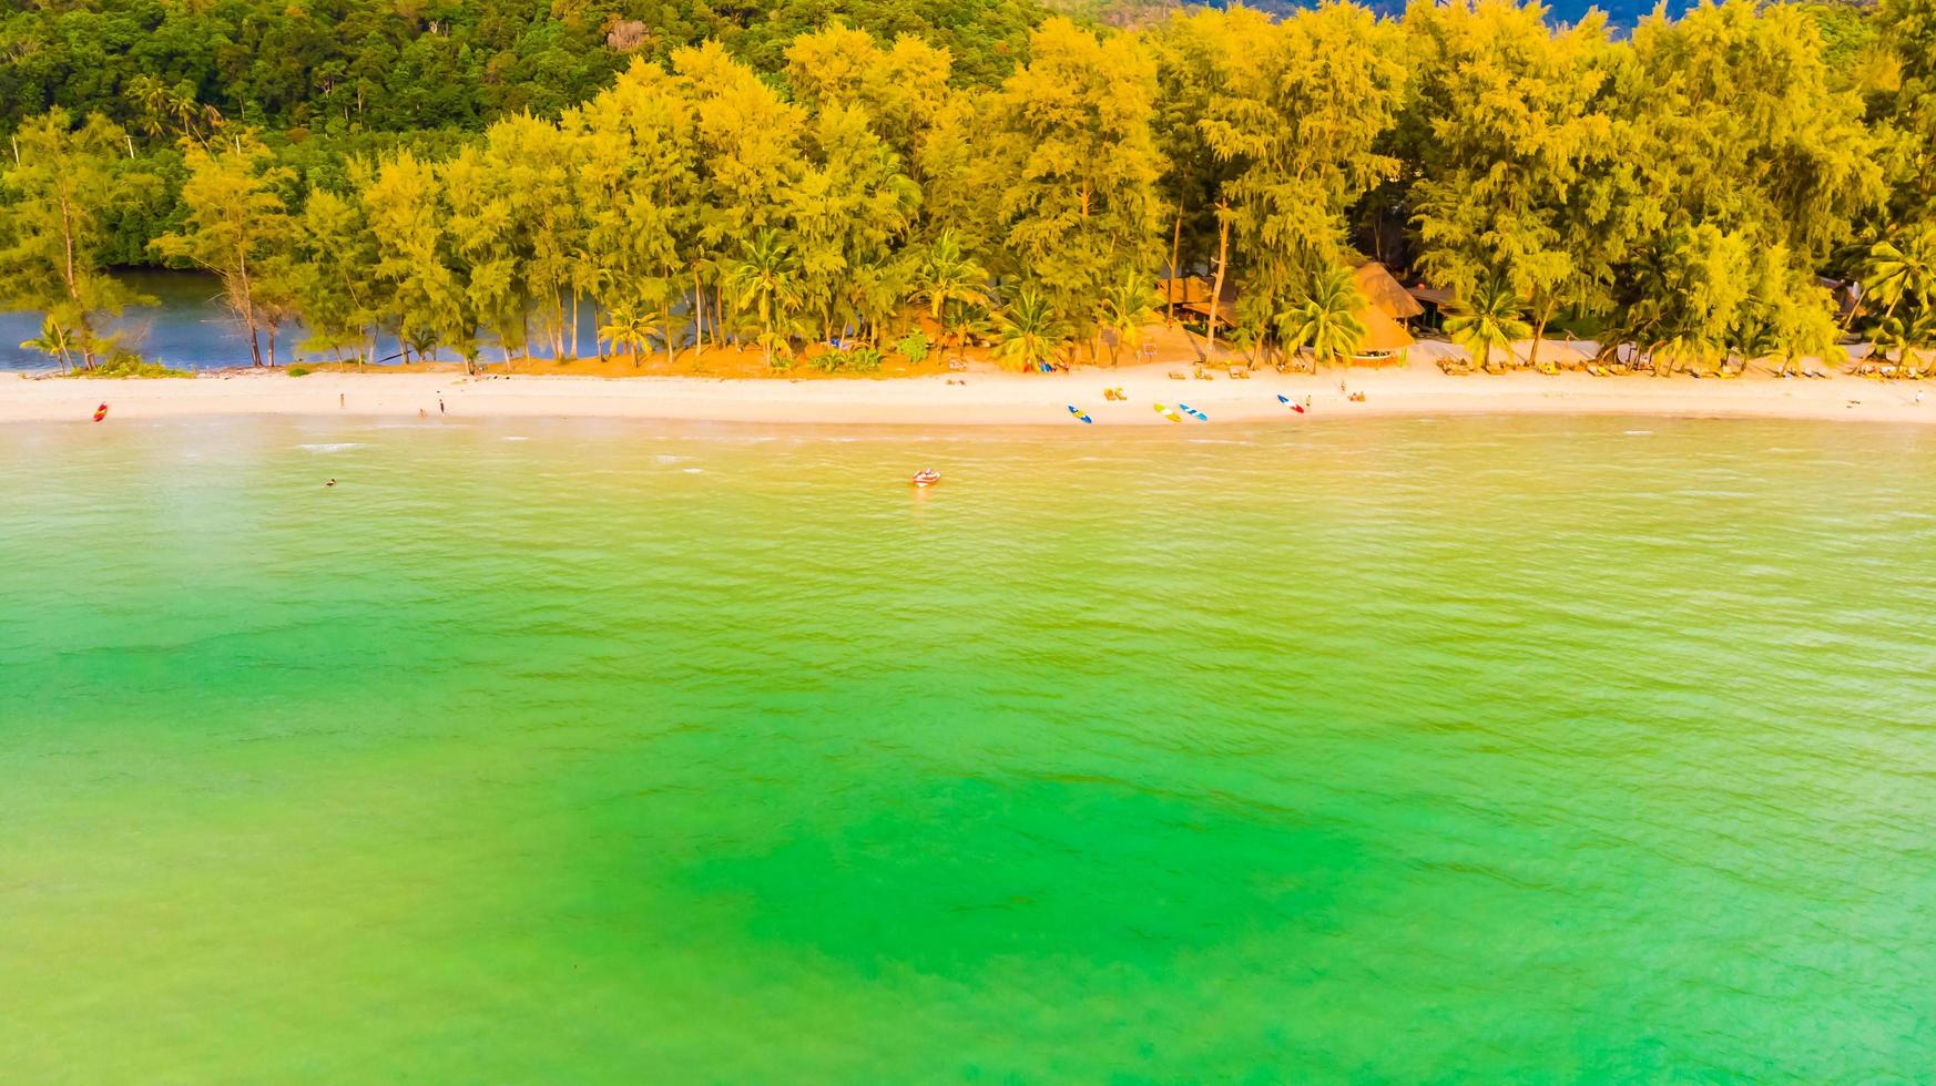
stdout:
<svg viewBox="0 0 1936 1086">
<path fill-rule="evenodd" d="M 1026 0 L 91 0 L 0 15 L 0 128 L 62 105 L 168 141 L 223 120 L 314 134 L 480 128 L 556 116 L 633 58 L 718 41 L 772 74 L 788 45 L 840 14 L 883 39 L 953 54 L 976 83 L 1022 56 L 1042 8 Z"/>
</svg>

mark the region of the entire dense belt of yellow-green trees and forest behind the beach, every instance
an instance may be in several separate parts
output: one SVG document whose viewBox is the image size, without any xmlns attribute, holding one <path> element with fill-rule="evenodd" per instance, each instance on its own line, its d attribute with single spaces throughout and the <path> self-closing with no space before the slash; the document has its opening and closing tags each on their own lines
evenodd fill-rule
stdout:
<svg viewBox="0 0 1936 1086">
<path fill-rule="evenodd" d="M 0 302 L 83 368 L 130 263 L 356 358 L 923 323 L 1020 366 L 1134 343 L 1177 267 L 1212 339 L 1324 362 L 1376 257 L 1475 354 L 1936 345 L 1936 0 L 1063 10 L 48 0 L 0 17 Z"/>
</svg>

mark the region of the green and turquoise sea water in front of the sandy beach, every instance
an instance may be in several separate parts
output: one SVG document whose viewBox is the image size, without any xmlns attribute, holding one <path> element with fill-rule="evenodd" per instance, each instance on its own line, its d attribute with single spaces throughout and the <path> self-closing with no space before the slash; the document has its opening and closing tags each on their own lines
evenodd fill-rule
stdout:
<svg viewBox="0 0 1936 1086">
<path fill-rule="evenodd" d="M 10 426 L 0 1051 L 1911 1078 L 1932 455 L 1618 418 Z"/>
</svg>

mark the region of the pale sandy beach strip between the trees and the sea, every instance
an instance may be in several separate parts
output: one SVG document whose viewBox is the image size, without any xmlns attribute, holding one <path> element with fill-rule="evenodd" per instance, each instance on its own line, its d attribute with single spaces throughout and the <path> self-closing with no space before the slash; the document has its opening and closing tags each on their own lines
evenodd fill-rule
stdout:
<svg viewBox="0 0 1936 1086">
<path fill-rule="evenodd" d="M 680 422 L 852 424 L 852 426 L 1171 426 L 1152 405 L 1179 401 L 1220 422 L 1309 422 L 1394 414 L 1630 414 L 1671 418 L 1795 418 L 1936 424 L 1936 389 L 1919 381 L 1775 379 L 1750 374 L 1692 379 L 1588 374 L 1452 377 L 1413 362 L 1386 370 L 1326 370 L 1251 379 L 1173 379 L 1175 364 L 1086 368 L 1071 374 L 974 370 L 929 377 L 589 377 L 480 374 L 228 372 L 174 379 L 33 379 L 0 374 L 0 422 L 89 422 L 101 403 L 108 420 L 205 416 L 436 418 L 637 418 Z M 962 383 L 951 383 L 962 381 Z M 1340 391 L 1353 393 L 1353 403 Z M 1104 399 L 1121 387 L 1127 403 Z M 1295 414 L 1278 395 L 1303 401 Z M 1067 405 L 1094 418 L 1080 426 Z M 1202 426 L 1185 420 L 1187 426 Z"/>
</svg>

